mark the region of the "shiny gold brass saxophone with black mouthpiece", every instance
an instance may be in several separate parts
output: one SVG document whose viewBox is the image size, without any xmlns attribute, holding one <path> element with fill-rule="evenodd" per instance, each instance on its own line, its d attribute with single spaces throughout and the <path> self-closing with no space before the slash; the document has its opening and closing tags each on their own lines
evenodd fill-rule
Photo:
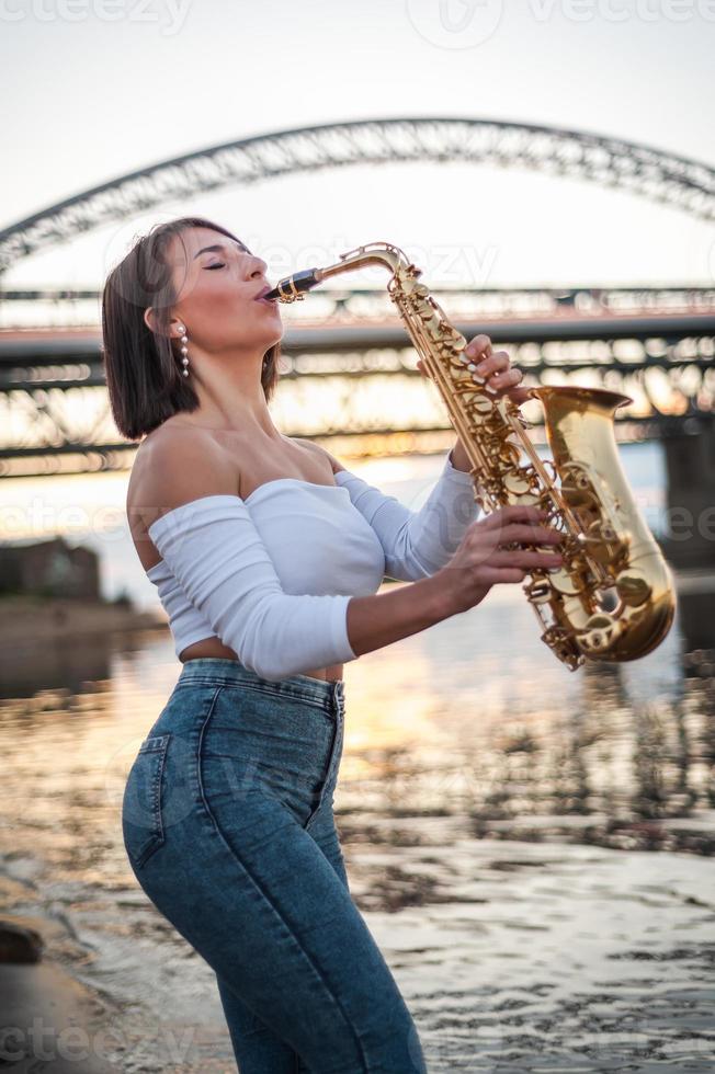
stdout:
<svg viewBox="0 0 715 1074">
<path fill-rule="evenodd" d="M 545 525 L 564 535 L 563 565 L 535 569 L 524 581 L 542 641 L 571 671 L 586 660 L 628 661 L 651 652 L 670 629 L 676 596 L 618 459 L 614 414 L 632 400 L 595 388 L 532 388 L 553 455 L 542 459 L 517 403 L 486 387 L 464 354 L 465 336 L 418 282 L 421 271 L 388 242 L 295 273 L 265 297 L 293 302 L 330 276 L 372 264 L 391 273 L 388 294 L 472 462 L 475 501 L 485 511 L 536 506 L 547 513 Z"/>
</svg>

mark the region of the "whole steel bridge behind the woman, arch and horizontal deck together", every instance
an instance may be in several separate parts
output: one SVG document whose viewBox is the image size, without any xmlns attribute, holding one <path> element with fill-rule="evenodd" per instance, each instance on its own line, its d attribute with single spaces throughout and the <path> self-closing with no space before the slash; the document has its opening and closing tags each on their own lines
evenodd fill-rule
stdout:
<svg viewBox="0 0 715 1074">
<path fill-rule="evenodd" d="M 0 231 L 0 279 L 23 258 L 167 199 L 356 163 L 450 160 L 578 178 L 715 222 L 715 169 L 652 147 L 493 119 L 376 118 L 225 142 L 81 192 Z M 702 506 L 697 489 L 715 479 L 715 286 L 434 294 L 465 335 L 486 331 L 509 350 L 527 384 L 570 380 L 631 396 L 618 435 L 666 438 L 672 487 L 690 482 Z M 130 465 L 136 444 L 117 437 L 109 413 L 98 313 L 97 292 L 0 290 L 0 473 Z M 285 320 L 273 405 L 290 435 L 347 439 L 368 454 L 451 442 L 446 410 L 415 372 L 384 292 L 321 289 Z"/>
</svg>

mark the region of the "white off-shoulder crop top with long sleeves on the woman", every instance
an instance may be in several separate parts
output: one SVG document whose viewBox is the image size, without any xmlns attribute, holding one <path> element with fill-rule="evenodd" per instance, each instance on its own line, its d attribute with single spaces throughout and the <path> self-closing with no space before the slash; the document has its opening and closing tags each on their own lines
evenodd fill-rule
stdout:
<svg viewBox="0 0 715 1074">
<path fill-rule="evenodd" d="M 201 496 L 151 523 L 162 558 L 146 573 L 177 656 L 218 637 L 270 681 L 356 660 L 351 597 L 375 593 L 385 575 L 432 575 L 479 514 L 472 477 L 449 457 L 417 512 L 350 470 L 334 479 L 277 478 L 246 499 Z"/>
</svg>

